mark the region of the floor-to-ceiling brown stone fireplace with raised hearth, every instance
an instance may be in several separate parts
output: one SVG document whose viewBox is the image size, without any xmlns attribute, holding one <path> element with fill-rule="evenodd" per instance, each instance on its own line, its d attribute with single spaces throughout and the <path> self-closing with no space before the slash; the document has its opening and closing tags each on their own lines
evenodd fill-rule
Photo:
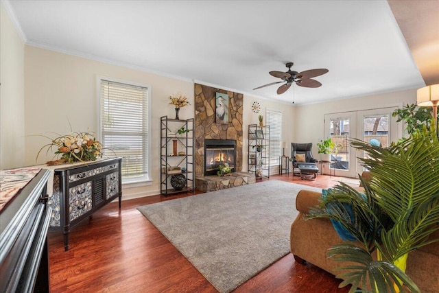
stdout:
<svg viewBox="0 0 439 293">
<path fill-rule="evenodd" d="M 228 95 L 228 123 L 226 124 L 216 123 L 216 93 Z M 241 93 L 215 89 L 204 84 L 195 84 L 195 189 L 209 192 L 255 182 L 254 173 L 241 172 L 243 106 L 244 95 Z M 223 145 L 219 141 L 233 141 L 235 144 L 234 146 L 230 146 L 228 143 Z M 213 146 L 206 145 L 206 143 L 213 143 Z M 207 156 L 213 156 L 213 159 L 209 159 Z M 215 159 L 217 156 L 220 157 Z M 225 156 L 228 157 L 225 158 Z M 233 161 L 230 161 L 232 158 Z M 231 176 L 219 177 L 216 175 L 216 167 L 221 161 L 229 163 L 229 165 L 233 164 L 234 172 Z"/>
</svg>

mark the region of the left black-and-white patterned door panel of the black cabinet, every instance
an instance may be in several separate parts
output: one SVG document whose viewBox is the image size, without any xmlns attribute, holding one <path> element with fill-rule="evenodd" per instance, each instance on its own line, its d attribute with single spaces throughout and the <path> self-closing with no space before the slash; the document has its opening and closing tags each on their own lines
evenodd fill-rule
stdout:
<svg viewBox="0 0 439 293">
<path fill-rule="evenodd" d="M 69 188 L 70 222 L 91 211 L 91 181 Z"/>
</svg>

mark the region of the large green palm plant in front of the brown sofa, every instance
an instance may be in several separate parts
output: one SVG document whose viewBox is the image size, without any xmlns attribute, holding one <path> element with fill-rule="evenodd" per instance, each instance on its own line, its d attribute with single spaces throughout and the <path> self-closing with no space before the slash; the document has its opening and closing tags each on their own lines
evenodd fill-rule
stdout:
<svg viewBox="0 0 439 293">
<path fill-rule="evenodd" d="M 435 130 L 412 134 L 388 148 L 351 141 L 368 152 L 362 163 L 373 174 L 364 194 L 340 184 L 329 190 L 308 218 L 338 221 L 357 242 L 338 244 L 329 250 L 342 266 L 340 287 L 352 284 L 350 292 L 419 292 L 405 274 L 410 251 L 439 241 L 428 239 L 439 230 L 439 142 Z M 377 250 L 377 260 L 372 253 Z"/>
</svg>

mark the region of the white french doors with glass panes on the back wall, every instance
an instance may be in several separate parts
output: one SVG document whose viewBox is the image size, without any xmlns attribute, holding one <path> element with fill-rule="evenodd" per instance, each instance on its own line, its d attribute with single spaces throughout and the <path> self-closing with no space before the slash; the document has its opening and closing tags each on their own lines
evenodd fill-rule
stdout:
<svg viewBox="0 0 439 293">
<path fill-rule="evenodd" d="M 392 112 L 396 107 L 361 110 L 324 115 L 324 139 L 331 137 L 335 148 L 331 154 L 331 171 L 336 176 L 357 177 L 363 172 L 358 160 L 367 156 L 352 148 L 350 139 L 386 147 L 402 137 L 402 125 L 396 123 Z"/>
</svg>

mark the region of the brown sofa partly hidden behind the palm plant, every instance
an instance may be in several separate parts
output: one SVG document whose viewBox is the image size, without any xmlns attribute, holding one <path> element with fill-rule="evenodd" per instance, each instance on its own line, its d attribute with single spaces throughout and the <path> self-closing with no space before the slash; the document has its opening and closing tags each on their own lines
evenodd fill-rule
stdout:
<svg viewBox="0 0 439 293">
<path fill-rule="evenodd" d="M 331 274 L 340 274 L 334 270 L 340 263 L 327 258 L 327 250 L 342 242 L 330 220 L 305 220 L 309 207 L 319 203 L 321 193 L 301 190 L 296 198 L 299 214 L 291 226 L 290 246 L 296 262 L 305 261 L 318 266 Z M 434 236 L 439 237 L 439 231 Z M 409 254 L 407 274 L 418 285 L 420 292 L 439 292 L 439 242 L 429 244 Z"/>
</svg>

